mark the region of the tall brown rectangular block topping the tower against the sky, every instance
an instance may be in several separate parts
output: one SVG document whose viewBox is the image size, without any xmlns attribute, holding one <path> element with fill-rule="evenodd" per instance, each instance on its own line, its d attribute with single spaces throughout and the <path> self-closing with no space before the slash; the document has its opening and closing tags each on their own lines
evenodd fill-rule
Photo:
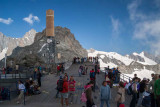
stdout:
<svg viewBox="0 0 160 107">
<path fill-rule="evenodd" d="M 46 36 L 54 36 L 54 11 L 46 11 Z"/>
</svg>

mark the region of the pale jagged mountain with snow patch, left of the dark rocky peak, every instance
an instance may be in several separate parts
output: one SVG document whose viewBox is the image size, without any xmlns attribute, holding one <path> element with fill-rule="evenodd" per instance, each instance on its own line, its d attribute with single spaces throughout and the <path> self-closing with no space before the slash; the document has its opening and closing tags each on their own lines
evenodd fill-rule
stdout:
<svg viewBox="0 0 160 107">
<path fill-rule="evenodd" d="M 7 37 L 0 32 L 0 60 L 4 58 L 5 54 L 11 55 L 16 47 L 31 45 L 34 42 L 35 35 L 36 31 L 34 29 L 26 32 L 22 38 Z"/>
</svg>

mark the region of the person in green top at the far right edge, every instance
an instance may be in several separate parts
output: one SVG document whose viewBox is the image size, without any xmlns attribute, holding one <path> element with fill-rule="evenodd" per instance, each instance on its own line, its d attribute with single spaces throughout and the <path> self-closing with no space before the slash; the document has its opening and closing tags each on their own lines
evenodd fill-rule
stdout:
<svg viewBox="0 0 160 107">
<path fill-rule="evenodd" d="M 156 98 L 157 107 L 160 107 L 160 78 L 156 74 L 156 81 L 154 83 L 154 95 Z"/>
</svg>

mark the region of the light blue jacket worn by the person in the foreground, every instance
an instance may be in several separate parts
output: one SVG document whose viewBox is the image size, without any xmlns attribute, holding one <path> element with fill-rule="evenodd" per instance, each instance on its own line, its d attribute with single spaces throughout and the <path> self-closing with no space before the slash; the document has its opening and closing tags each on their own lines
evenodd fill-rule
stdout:
<svg viewBox="0 0 160 107">
<path fill-rule="evenodd" d="M 101 100 L 110 100 L 111 99 L 111 91 L 109 85 L 107 86 L 101 86 Z"/>
</svg>

